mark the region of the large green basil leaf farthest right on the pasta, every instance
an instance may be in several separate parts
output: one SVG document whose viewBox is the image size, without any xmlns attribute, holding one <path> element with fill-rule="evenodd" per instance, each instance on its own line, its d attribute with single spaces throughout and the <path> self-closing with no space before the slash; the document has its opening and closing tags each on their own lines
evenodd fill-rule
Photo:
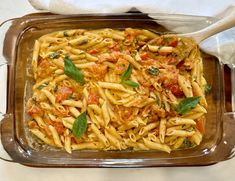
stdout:
<svg viewBox="0 0 235 181">
<path fill-rule="evenodd" d="M 197 96 L 197 97 L 188 97 L 183 99 L 177 107 L 177 112 L 179 114 L 185 114 L 189 112 L 191 109 L 197 106 L 200 98 L 201 98 L 200 96 Z"/>
</svg>

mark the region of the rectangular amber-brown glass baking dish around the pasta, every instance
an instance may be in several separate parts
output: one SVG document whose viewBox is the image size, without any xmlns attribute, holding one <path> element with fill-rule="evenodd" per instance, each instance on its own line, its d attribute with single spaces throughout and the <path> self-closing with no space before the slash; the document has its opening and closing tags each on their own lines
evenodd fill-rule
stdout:
<svg viewBox="0 0 235 181">
<path fill-rule="evenodd" d="M 152 18 L 150 18 L 152 17 Z M 159 24 L 183 25 L 183 33 L 202 29 L 215 19 L 166 14 L 102 14 L 53 15 L 30 14 L 9 20 L 1 26 L 3 56 L 7 64 L 7 107 L 1 121 L 1 141 L 14 162 L 33 167 L 153 167 L 210 165 L 234 156 L 235 114 L 232 112 L 231 90 L 234 70 L 226 68 L 214 56 L 203 53 L 204 74 L 212 86 L 207 95 L 206 133 L 201 145 L 185 150 L 159 151 L 96 151 L 82 150 L 68 154 L 59 149 L 45 149 L 31 144 L 26 126 L 25 104 L 32 82 L 27 79 L 34 41 L 58 30 L 84 28 L 143 28 L 154 32 L 170 32 Z M 159 24 L 158 24 L 158 23 Z M 195 26 L 196 25 L 196 26 Z M 219 42 L 219 41 L 218 41 Z M 219 43 L 216 45 L 219 47 Z M 225 71 L 224 71 L 225 70 Z M 233 81 L 233 82 L 232 82 Z M 226 85 L 226 86 L 225 86 Z"/>
</svg>

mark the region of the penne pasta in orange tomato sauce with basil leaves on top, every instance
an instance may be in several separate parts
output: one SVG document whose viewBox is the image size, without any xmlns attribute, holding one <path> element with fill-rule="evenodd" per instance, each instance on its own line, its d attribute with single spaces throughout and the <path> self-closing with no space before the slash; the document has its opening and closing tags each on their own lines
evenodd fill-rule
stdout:
<svg viewBox="0 0 235 181">
<path fill-rule="evenodd" d="M 30 132 L 79 149 L 172 150 L 204 134 L 206 80 L 190 38 L 144 29 L 74 29 L 35 41 Z"/>
</svg>

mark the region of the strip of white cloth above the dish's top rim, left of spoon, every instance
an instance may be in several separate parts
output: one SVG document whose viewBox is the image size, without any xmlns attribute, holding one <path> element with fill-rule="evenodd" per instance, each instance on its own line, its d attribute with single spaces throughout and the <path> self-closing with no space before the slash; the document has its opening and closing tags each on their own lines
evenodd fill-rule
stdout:
<svg viewBox="0 0 235 181">
<path fill-rule="evenodd" d="M 36 8 L 58 14 L 120 13 L 136 8 L 144 13 L 214 16 L 234 0 L 29 0 Z"/>
</svg>

